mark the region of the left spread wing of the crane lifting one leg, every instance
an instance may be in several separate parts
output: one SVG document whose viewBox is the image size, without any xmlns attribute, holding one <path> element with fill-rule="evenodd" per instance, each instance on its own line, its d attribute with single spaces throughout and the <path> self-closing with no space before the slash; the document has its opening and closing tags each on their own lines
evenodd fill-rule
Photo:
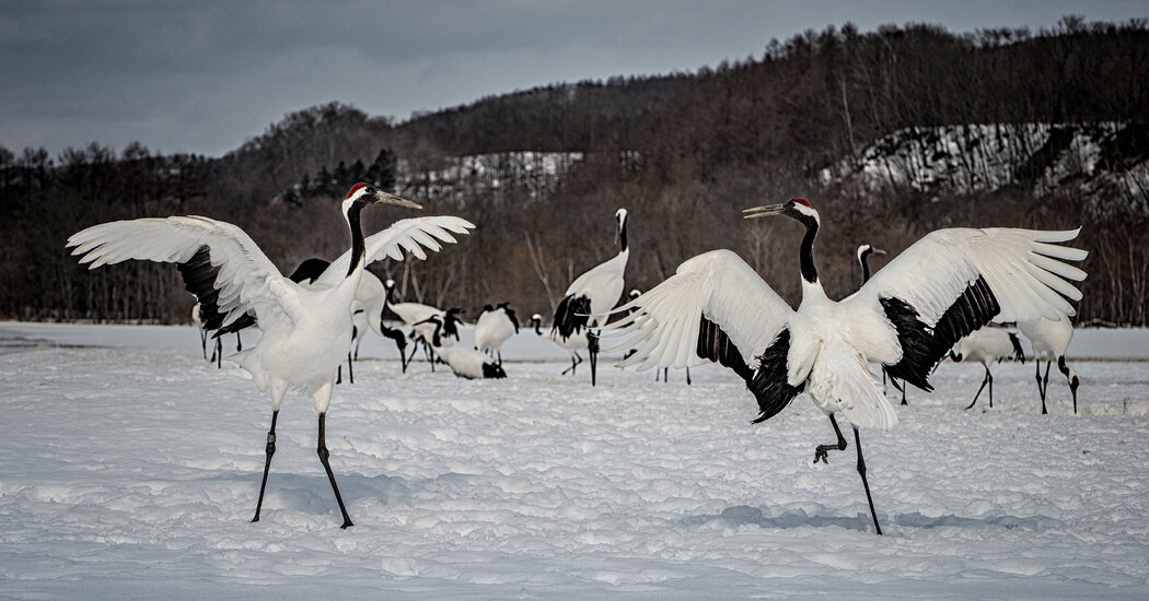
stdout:
<svg viewBox="0 0 1149 601">
<path fill-rule="evenodd" d="M 607 327 L 609 350 L 635 349 L 619 367 L 689 367 L 705 360 L 731 368 L 758 401 L 762 421 L 802 392 L 788 383 L 788 327 L 794 311 L 728 250 L 683 263 L 661 284 L 615 310 L 630 315 Z"/>
</svg>

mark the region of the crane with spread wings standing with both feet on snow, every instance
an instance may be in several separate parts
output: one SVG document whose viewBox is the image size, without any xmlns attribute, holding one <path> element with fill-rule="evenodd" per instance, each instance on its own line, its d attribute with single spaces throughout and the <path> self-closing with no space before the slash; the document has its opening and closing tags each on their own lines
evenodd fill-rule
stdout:
<svg viewBox="0 0 1149 601">
<path fill-rule="evenodd" d="M 455 241 L 452 232 L 462 234 L 475 227 L 457 217 L 402 219 L 364 240 L 360 213 L 372 204 L 419 208 L 363 182 L 352 186 L 341 205 L 352 248 L 310 287 L 284 278 L 242 229 L 206 217 L 114 221 L 68 239 L 68 247 L 75 247 L 72 255 L 83 255 L 79 262 L 90 268 L 128 259 L 178 264 L 184 286 L 202 304 L 209 329 L 226 327 L 248 313 L 255 319 L 262 330 L 260 341 L 229 358 L 252 374 L 260 390 L 271 392 L 271 428 L 253 522 L 260 520 L 263 506 L 284 395 L 288 388 L 303 388 L 318 413 L 316 451 L 336 493 L 342 528 L 353 525 L 329 462 L 326 415 L 336 368 L 350 348 L 350 306 L 363 268 L 383 257 L 401 259 L 404 250 L 425 258 L 424 247 L 439 250 L 439 241 Z"/>
</svg>

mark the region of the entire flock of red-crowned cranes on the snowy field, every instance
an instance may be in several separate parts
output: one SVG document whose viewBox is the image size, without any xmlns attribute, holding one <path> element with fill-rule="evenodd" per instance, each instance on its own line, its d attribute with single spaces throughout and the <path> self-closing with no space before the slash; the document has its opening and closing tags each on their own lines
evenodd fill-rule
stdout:
<svg viewBox="0 0 1149 601">
<path fill-rule="evenodd" d="M 272 400 L 253 522 L 260 518 L 285 392 L 303 388 L 311 393 L 318 414 L 317 453 L 342 514 L 342 528 L 353 525 L 329 462 L 325 417 L 342 357 L 353 358 L 352 343 L 367 328 L 386 331 L 386 310 L 414 328 L 412 337 L 427 349 L 432 369 L 438 356 L 456 375 L 506 375 L 501 345 L 518 330 L 506 303 L 485 307 L 477 325 L 476 348 L 466 349 L 450 343 L 452 337 L 458 339 L 458 310 L 392 304 L 392 281 L 383 284 L 381 294 L 368 283 L 371 294 L 358 295 L 369 280 L 364 275 L 367 264 L 384 257 L 402 259 L 404 250 L 425 258 L 425 249 L 438 251 L 440 242 L 455 242 L 453 233 L 465 234 L 473 225 L 455 217 L 402 219 L 364 239 L 360 213 L 371 204 L 419 208 L 365 184 L 353 186 L 341 205 L 350 231 L 350 250 L 315 275 L 310 284 L 284 278 L 238 227 L 201 217 L 116 221 L 90 227 L 69 239 L 74 253 L 83 255 L 80 262 L 93 268 L 126 259 L 176 263 L 185 287 L 200 300 L 199 317 L 205 328 L 223 331 L 249 320 L 261 329 L 262 337 L 254 348 L 231 357 L 252 374 L 261 390 L 270 391 Z M 1017 322 L 1019 327 L 1036 323 L 1049 329 L 1067 325 L 1074 314 L 1071 302 L 1081 297 L 1072 282 L 1085 278 L 1085 272 L 1070 262 L 1082 260 L 1086 252 L 1062 244 L 1073 240 L 1078 231 L 940 229 L 912 244 L 872 278 L 865 263 L 870 252 L 859 251 L 863 286 L 842 300 L 832 300 L 823 290 L 813 260 L 820 226 L 818 211 L 804 198 L 745 211 L 747 219 L 771 216 L 788 217 L 805 229 L 797 252 L 802 299 L 796 310 L 730 250 L 686 260 L 674 275 L 616 307 L 630 256 L 627 212 L 619 209 L 618 255 L 574 279 L 555 311 L 549 334 L 542 331 L 539 314 L 532 315 L 531 326 L 537 335 L 570 351 L 571 366 L 566 370 L 571 373 L 581 362 L 578 351 L 586 349 L 592 385 L 599 339 L 608 336 L 616 344 L 607 350 L 632 351 L 618 367 L 637 366 L 641 372 L 711 361 L 730 368 L 757 401 L 758 416 L 753 423 L 773 417 L 805 393 L 827 416 L 836 437 L 834 443 L 816 446 L 815 462 L 828 463 L 830 451 L 847 448 L 836 419 L 845 416 L 854 430 L 856 469 L 874 530 L 880 534 L 859 429 L 888 430 L 897 424 L 899 416 L 869 362 L 880 364 L 903 387 L 909 383 L 930 391 L 928 377 L 938 362 L 958 341 L 990 322 Z M 612 314 L 620 318 L 608 323 Z M 1065 366 L 1064 351 L 1064 345 L 1052 342 L 1040 351 L 1034 344 L 1035 354 L 1043 353 L 1047 361 L 1056 359 L 1071 378 L 1075 407 L 1077 376 Z M 403 354 L 402 349 L 400 352 Z M 973 356 L 972 351 L 969 356 Z M 1043 400 L 1048 373 L 1047 364 L 1043 381 L 1039 366 Z M 982 385 L 986 383 L 992 395 L 988 368 Z"/>
</svg>

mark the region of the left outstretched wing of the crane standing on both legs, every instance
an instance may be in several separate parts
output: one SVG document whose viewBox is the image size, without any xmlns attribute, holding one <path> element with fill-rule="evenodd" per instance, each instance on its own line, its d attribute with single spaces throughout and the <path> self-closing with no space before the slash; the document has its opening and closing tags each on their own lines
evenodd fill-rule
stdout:
<svg viewBox="0 0 1149 601">
<path fill-rule="evenodd" d="M 203 312 L 203 329 L 219 329 L 250 312 L 257 321 L 294 323 L 298 286 L 242 229 L 207 217 L 100 224 L 68 239 L 72 255 L 94 270 L 128 259 L 178 264 Z"/>
</svg>

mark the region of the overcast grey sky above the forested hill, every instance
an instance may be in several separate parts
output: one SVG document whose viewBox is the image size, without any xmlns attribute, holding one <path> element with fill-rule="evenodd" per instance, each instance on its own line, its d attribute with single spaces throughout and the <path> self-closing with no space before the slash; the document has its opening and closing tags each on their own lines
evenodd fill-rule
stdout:
<svg viewBox="0 0 1149 601">
<path fill-rule="evenodd" d="M 218 156 L 333 100 L 402 120 L 552 83 L 761 57 L 771 38 L 830 24 L 1036 31 L 1066 14 L 1149 17 L 1149 0 L 3 0 L 0 146 Z"/>
</svg>

